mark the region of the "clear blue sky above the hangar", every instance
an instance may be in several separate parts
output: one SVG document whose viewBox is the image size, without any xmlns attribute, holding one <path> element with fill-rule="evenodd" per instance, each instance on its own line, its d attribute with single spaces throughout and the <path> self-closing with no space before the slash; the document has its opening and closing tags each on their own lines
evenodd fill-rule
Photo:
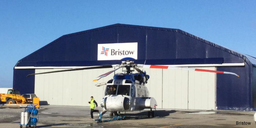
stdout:
<svg viewBox="0 0 256 128">
<path fill-rule="evenodd" d="M 256 57 L 256 0 L 1 0 L 0 87 L 54 39 L 115 23 L 181 29 Z"/>
</svg>

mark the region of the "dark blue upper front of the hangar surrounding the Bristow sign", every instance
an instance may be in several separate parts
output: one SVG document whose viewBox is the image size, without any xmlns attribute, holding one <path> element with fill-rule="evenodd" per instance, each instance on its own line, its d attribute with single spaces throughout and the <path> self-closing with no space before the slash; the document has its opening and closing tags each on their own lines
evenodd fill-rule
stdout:
<svg viewBox="0 0 256 128">
<path fill-rule="evenodd" d="M 19 60 L 20 66 L 91 66 L 116 64 L 97 61 L 97 44 L 138 42 L 137 63 L 256 64 L 256 59 L 180 29 L 114 24 L 63 35 Z M 150 51 L 150 52 L 149 52 Z"/>
</svg>

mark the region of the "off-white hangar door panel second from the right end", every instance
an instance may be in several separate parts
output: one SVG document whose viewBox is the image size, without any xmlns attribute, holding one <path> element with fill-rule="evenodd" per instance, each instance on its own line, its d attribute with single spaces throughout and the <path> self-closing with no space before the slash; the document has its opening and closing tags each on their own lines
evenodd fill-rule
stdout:
<svg viewBox="0 0 256 128">
<path fill-rule="evenodd" d="M 163 69 L 163 108 L 188 109 L 188 71 Z"/>
</svg>

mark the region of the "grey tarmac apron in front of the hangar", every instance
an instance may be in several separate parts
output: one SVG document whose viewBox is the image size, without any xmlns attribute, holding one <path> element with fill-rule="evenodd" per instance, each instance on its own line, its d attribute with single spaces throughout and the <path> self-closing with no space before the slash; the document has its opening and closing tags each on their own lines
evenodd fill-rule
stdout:
<svg viewBox="0 0 256 128">
<path fill-rule="evenodd" d="M 19 128 L 22 110 L 1 108 L 0 128 Z M 149 109 L 145 109 L 125 113 L 125 120 L 97 123 L 90 119 L 88 106 L 45 105 L 38 110 L 38 128 L 256 128 L 255 112 L 244 111 L 157 109 L 155 117 L 148 118 Z M 98 113 L 94 113 L 94 118 L 98 118 Z M 103 120 L 110 118 L 109 112 L 103 115 Z"/>
</svg>

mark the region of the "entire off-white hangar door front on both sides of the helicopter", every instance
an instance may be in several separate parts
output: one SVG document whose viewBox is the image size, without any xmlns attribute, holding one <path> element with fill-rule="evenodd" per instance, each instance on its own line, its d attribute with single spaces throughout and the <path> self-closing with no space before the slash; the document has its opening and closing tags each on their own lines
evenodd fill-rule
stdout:
<svg viewBox="0 0 256 128">
<path fill-rule="evenodd" d="M 98 82 L 92 80 L 112 69 L 35 75 L 35 94 L 41 101 L 47 101 L 50 105 L 89 106 L 87 102 L 92 95 L 97 103 L 100 103 L 104 96 L 105 86 L 94 85 L 107 82 L 113 78 L 113 74 Z M 215 70 L 215 67 L 201 69 Z M 35 73 L 56 70 L 60 69 L 36 69 Z M 157 108 L 215 110 L 214 73 L 173 69 L 145 70 L 150 75 L 146 86 L 150 91 L 150 97 L 156 99 Z M 121 69 L 116 71 L 116 73 L 119 72 Z"/>
</svg>

